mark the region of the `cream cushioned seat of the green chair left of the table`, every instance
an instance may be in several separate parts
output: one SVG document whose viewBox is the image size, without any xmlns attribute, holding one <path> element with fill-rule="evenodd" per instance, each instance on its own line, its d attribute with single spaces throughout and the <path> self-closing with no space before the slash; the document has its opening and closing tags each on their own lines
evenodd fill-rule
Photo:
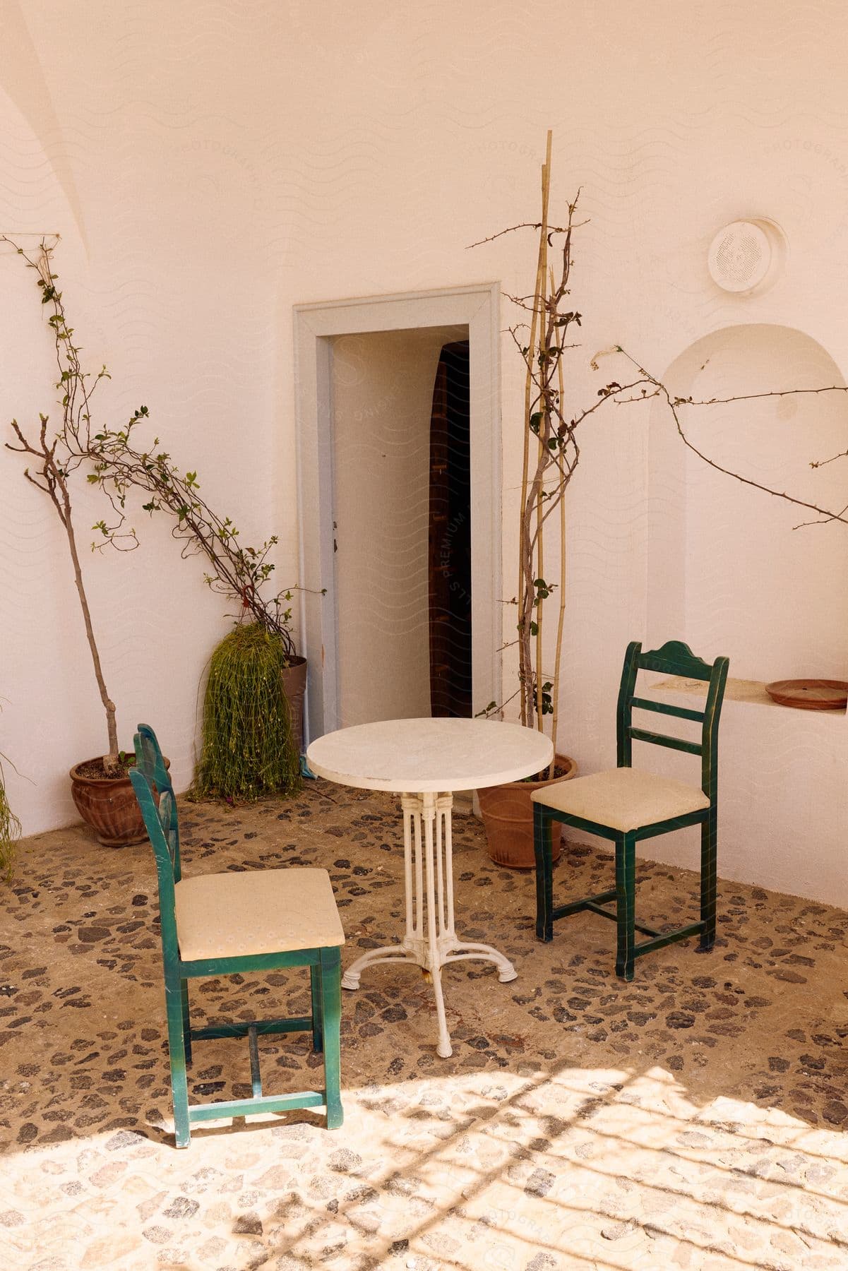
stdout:
<svg viewBox="0 0 848 1271">
<path fill-rule="evenodd" d="M 325 869 L 198 874 L 175 885 L 177 937 L 186 962 L 345 943 Z"/>
</svg>

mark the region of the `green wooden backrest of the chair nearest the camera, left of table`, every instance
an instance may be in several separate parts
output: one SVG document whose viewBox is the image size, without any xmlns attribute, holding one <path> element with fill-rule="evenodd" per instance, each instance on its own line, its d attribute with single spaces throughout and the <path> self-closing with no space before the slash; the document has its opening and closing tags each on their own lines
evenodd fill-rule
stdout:
<svg viewBox="0 0 848 1271">
<path fill-rule="evenodd" d="M 156 858 L 163 946 L 165 946 L 167 953 L 175 956 L 174 885 L 179 882 L 181 877 L 177 799 L 153 728 L 140 723 L 133 742 L 136 761 L 135 766 L 130 769 L 130 780 Z M 156 791 L 159 792 L 159 806 L 156 806 Z"/>
</svg>

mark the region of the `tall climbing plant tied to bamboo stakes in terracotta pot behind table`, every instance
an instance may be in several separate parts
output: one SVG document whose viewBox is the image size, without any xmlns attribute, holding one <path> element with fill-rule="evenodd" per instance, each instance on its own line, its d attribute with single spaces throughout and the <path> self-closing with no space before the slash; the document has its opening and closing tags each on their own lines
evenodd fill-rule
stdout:
<svg viewBox="0 0 848 1271">
<path fill-rule="evenodd" d="M 572 266 L 571 245 L 572 233 L 576 228 L 575 212 L 578 196 L 568 205 L 566 224 L 563 226 L 552 225 L 548 216 L 551 145 L 552 133 L 548 132 L 545 163 L 542 168 L 540 220 L 511 226 L 482 240 L 482 243 L 491 243 L 501 234 L 521 229 L 535 229 L 539 233 L 534 291 L 528 296 L 509 296 L 525 311 L 526 318 L 510 328 L 510 334 L 525 365 L 525 394 L 524 459 L 517 534 L 519 578 L 516 597 L 512 601 L 517 606 L 519 684 L 517 690 L 507 700 L 519 698 L 521 723 L 526 727 L 543 730 L 545 717 L 549 717 L 554 759 L 551 768 L 535 778 L 478 791 L 489 855 L 498 864 L 528 869 L 535 866 L 531 793 L 544 784 L 567 780 L 577 771 L 573 760 L 557 752 L 557 735 L 566 613 L 564 496 L 580 459 L 576 436 L 580 425 L 609 402 L 626 404 L 657 398 L 667 407 L 681 444 L 702 461 L 746 486 L 814 511 L 823 522 L 830 520 L 848 522 L 844 510 L 831 511 L 783 491 L 772 489 L 708 458 L 689 440 L 681 419 L 681 411 L 687 407 L 741 402 L 746 397 L 786 397 L 804 391 L 844 393 L 848 391 L 844 385 L 825 385 L 820 389 L 787 389 L 774 393 L 760 391 L 749 395 L 736 394 L 723 399 L 693 402 L 692 398 L 680 398 L 670 393 L 661 380 L 651 375 L 619 344 L 615 344 L 605 353 L 619 356 L 627 364 L 626 383 L 613 380 L 605 384 L 599 389 L 596 400 L 584 409 L 575 409 L 568 404 L 563 361 L 566 352 L 577 347 L 570 342 L 570 333 L 572 328 L 581 325 L 581 314 L 568 300 Z M 473 245 L 479 247 L 481 244 Z M 595 355 L 591 360 L 592 370 L 599 369 L 601 356 L 605 355 Z M 812 466 L 819 466 L 819 464 L 814 463 Z M 548 543 L 545 543 L 545 536 L 548 536 Z M 551 536 L 554 538 L 553 553 L 551 552 Z M 557 581 L 547 577 L 545 561 L 549 561 L 552 554 L 558 562 Z M 554 596 L 554 592 L 558 595 L 556 597 L 557 613 L 552 648 L 551 642 L 547 646 L 543 644 L 543 636 L 545 632 L 545 602 Z M 549 677 L 543 671 L 545 665 L 551 667 Z M 482 713 L 487 716 L 500 713 L 503 705 L 506 703 L 492 702 Z M 554 859 L 558 853 L 559 843 L 554 845 Z"/>
</svg>

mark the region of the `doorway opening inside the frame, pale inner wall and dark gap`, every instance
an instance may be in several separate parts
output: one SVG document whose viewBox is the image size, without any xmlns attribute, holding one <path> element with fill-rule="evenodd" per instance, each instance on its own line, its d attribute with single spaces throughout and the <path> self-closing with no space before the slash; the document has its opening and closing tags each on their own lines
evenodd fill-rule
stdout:
<svg viewBox="0 0 848 1271">
<path fill-rule="evenodd" d="M 448 571 L 458 555 L 448 513 L 453 502 L 459 539 L 468 541 L 470 507 L 468 388 L 459 461 L 464 482 L 458 491 L 449 480 L 456 465 L 449 459 L 448 428 L 463 413 L 455 385 L 462 357 L 444 351 L 467 346 L 467 336 L 464 325 L 421 327 L 357 332 L 332 342 L 333 588 L 342 728 L 430 716 L 434 672 L 442 686 L 440 704 L 445 695 L 455 661 Z M 470 573 L 470 561 L 467 566 Z M 470 700 L 470 684 L 467 694 Z"/>
</svg>

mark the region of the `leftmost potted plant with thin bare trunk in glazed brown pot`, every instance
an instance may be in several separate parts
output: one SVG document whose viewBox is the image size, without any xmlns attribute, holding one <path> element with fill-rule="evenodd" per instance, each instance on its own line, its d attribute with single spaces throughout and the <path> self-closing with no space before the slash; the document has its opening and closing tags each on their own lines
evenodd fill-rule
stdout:
<svg viewBox="0 0 848 1271">
<path fill-rule="evenodd" d="M 69 327 L 62 306 L 61 292 L 56 289 L 56 276 L 51 272 L 50 250 L 42 241 L 34 257 L 23 248 L 3 238 L 37 273 L 42 305 L 50 311 L 47 319 L 56 343 L 56 358 L 60 379 L 56 388 L 61 393 L 61 423 L 56 432 L 50 430 L 50 418 L 39 416 L 39 426 L 28 435 L 17 419 L 11 421 L 15 442 L 6 442 L 10 450 L 19 451 L 33 460 L 24 469 L 27 480 L 41 489 L 52 503 L 65 531 L 74 571 L 74 585 L 79 597 L 85 636 L 88 639 L 94 679 L 106 714 L 107 750 L 103 755 L 85 759 L 71 768 L 71 794 L 76 810 L 89 825 L 100 843 L 109 846 L 123 846 L 127 843 L 145 838 L 141 813 L 127 777 L 127 769 L 133 761 L 118 746 L 114 702 L 109 697 L 103 675 L 100 655 L 94 636 L 92 610 L 85 592 L 83 568 L 74 526 L 71 478 L 86 458 L 92 437 L 92 399 L 102 379 L 107 377 L 106 367 L 97 375 L 84 371 L 79 360 L 79 348 L 74 343 L 74 330 Z"/>
</svg>

